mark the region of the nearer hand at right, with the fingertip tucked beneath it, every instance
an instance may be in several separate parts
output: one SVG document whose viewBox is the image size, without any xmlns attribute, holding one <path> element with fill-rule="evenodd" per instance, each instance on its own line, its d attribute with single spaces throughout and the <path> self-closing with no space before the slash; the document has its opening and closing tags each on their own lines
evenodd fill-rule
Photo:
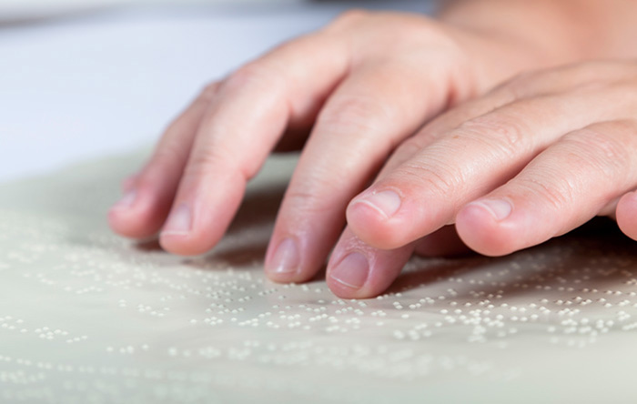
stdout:
<svg viewBox="0 0 637 404">
<path fill-rule="evenodd" d="M 637 239 L 637 63 L 520 76 L 406 140 L 349 204 L 329 262 L 343 298 L 382 292 L 440 237 L 501 256 L 616 217 Z M 438 229 L 440 229 L 436 232 Z M 424 238 L 423 238 L 424 237 Z M 373 247 L 370 247 L 373 246 Z"/>
</svg>

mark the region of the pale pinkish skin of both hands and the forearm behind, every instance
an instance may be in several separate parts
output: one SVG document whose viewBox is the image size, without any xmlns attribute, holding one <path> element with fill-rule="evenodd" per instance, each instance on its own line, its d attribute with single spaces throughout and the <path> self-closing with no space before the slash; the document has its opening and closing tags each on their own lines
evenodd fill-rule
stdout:
<svg viewBox="0 0 637 404">
<path fill-rule="evenodd" d="M 600 3 L 342 15 L 207 86 L 110 225 L 204 253 L 268 154 L 302 148 L 266 256 L 278 282 L 312 278 L 332 250 L 329 288 L 369 298 L 414 252 L 504 255 L 596 215 L 637 239 L 637 64 L 622 61 L 637 6 Z M 565 66 L 597 56 L 616 60 Z"/>
</svg>

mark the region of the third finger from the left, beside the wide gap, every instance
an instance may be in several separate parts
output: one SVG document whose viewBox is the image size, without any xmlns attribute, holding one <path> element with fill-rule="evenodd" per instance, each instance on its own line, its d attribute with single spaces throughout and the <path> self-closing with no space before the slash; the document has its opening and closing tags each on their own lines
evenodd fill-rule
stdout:
<svg viewBox="0 0 637 404">
<path fill-rule="evenodd" d="M 266 258 L 269 278 L 312 278 L 339 237 L 351 197 L 402 139 L 446 104 L 446 92 L 421 69 L 413 60 L 358 66 L 329 97 L 278 214 Z M 414 87 L 428 96 L 414 98 Z"/>
</svg>

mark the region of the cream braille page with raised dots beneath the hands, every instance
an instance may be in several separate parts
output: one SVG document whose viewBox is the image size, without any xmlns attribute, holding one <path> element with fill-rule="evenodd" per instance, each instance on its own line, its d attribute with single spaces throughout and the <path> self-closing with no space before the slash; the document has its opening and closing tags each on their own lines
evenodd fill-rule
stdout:
<svg viewBox="0 0 637 404">
<path fill-rule="evenodd" d="M 413 258 L 387 294 L 344 300 L 263 275 L 293 158 L 197 258 L 106 226 L 141 161 L 0 186 L 1 402 L 637 399 L 636 245 L 612 223 L 506 258 Z"/>
</svg>

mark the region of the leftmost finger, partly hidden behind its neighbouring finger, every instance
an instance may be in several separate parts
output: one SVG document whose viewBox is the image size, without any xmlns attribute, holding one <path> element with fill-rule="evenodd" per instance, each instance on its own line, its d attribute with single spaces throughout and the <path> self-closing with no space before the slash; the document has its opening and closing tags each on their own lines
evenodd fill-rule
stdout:
<svg viewBox="0 0 637 404">
<path fill-rule="evenodd" d="M 168 126 L 146 167 L 126 179 L 124 197 L 108 213 L 109 224 L 117 233 L 126 237 L 150 237 L 163 225 L 197 127 L 218 86 L 213 83 L 204 89 Z"/>
</svg>

